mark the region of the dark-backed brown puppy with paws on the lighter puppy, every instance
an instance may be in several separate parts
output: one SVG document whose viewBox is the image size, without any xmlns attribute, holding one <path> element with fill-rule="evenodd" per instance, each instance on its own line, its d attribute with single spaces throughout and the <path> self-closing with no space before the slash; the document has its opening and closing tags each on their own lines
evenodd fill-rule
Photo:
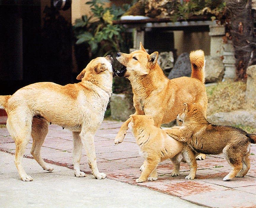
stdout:
<svg viewBox="0 0 256 208">
<path fill-rule="evenodd" d="M 177 119 L 183 122 L 182 127 L 164 129 L 174 139 L 189 144 L 197 152 L 204 154 L 224 153 L 232 166 L 223 180 L 244 177 L 250 169 L 250 142 L 255 143 L 256 135 L 248 134 L 240 128 L 232 126 L 216 126 L 210 124 L 199 104 L 184 104 L 185 107 Z"/>
</svg>

